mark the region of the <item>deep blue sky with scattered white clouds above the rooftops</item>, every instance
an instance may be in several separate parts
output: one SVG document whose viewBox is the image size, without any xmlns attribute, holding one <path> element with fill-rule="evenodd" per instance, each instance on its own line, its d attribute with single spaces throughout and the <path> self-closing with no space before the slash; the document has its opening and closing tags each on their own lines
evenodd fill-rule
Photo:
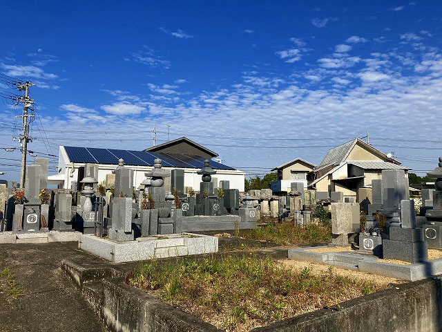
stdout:
<svg viewBox="0 0 442 332">
<path fill-rule="evenodd" d="M 440 1 L 2 8 L 0 73 L 37 84 L 34 151 L 143 149 L 154 125 L 157 142 L 167 140 L 169 124 L 171 139 L 188 136 L 250 174 L 297 157 L 318 164 L 367 130 L 374 147 L 421 174 L 442 154 Z M 14 92 L 4 82 L 0 90 Z M 0 148 L 18 146 L 20 111 L 0 103 Z M 3 178 L 18 178 L 6 165 L 19 161 L 0 162 Z"/>
</svg>

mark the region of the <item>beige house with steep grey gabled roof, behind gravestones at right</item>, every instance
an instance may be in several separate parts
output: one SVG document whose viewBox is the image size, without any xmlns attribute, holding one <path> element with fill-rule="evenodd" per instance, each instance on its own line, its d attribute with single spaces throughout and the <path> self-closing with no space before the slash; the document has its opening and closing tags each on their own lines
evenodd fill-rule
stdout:
<svg viewBox="0 0 442 332">
<path fill-rule="evenodd" d="M 320 192 L 343 192 L 357 197 L 358 189 L 371 187 L 373 179 L 382 177 L 383 169 L 410 168 L 356 138 L 330 149 L 323 161 L 315 167 L 315 180 L 309 185 Z"/>
</svg>

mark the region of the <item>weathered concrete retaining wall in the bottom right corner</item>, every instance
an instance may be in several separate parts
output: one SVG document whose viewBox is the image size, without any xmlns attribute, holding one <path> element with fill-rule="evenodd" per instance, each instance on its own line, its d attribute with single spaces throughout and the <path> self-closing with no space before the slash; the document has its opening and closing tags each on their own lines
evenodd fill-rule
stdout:
<svg viewBox="0 0 442 332">
<path fill-rule="evenodd" d="M 253 332 L 442 331 L 442 282 L 425 279 L 282 320 Z"/>
</svg>

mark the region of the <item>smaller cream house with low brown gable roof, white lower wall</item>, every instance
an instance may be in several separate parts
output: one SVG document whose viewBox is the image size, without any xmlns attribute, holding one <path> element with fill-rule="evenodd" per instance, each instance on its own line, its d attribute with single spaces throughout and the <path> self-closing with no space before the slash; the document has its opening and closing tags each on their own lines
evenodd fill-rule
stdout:
<svg viewBox="0 0 442 332">
<path fill-rule="evenodd" d="M 289 192 L 291 183 L 294 181 L 302 181 L 304 187 L 307 188 L 308 183 L 314 180 L 314 167 L 314 164 L 296 158 L 273 168 L 272 171 L 278 171 L 278 180 L 271 183 L 271 190 L 273 192 Z"/>
</svg>

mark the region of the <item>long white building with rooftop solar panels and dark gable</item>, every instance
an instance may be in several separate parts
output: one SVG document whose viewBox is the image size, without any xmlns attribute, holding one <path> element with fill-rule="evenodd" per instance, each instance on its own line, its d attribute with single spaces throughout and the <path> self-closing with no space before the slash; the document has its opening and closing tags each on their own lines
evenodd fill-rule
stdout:
<svg viewBox="0 0 442 332">
<path fill-rule="evenodd" d="M 184 186 L 200 190 L 201 175 L 197 172 L 204 165 L 204 160 L 209 159 L 210 165 L 216 174 L 212 176 L 215 187 L 221 180 L 230 182 L 232 189 L 244 191 L 244 172 L 211 160 L 218 156 L 215 152 L 202 147 L 198 143 L 182 137 L 171 140 L 161 145 L 156 145 L 144 151 L 127 149 L 108 149 L 105 147 L 59 147 L 59 173 L 49 176 L 48 181 L 59 188 L 70 188 L 73 181 L 79 183 L 84 176 L 86 163 L 98 165 L 97 181 L 101 182 L 106 174 L 115 171 L 118 159 L 123 158 L 126 167 L 133 169 L 133 185 L 137 188 L 146 178 L 144 173 L 153 169 L 153 160 L 160 158 L 162 166 L 166 170 L 184 169 Z M 169 182 L 168 182 L 169 181 Z M 170 190 L 170 177 L 166 178 L 166 190 Z"/>
</svg>

